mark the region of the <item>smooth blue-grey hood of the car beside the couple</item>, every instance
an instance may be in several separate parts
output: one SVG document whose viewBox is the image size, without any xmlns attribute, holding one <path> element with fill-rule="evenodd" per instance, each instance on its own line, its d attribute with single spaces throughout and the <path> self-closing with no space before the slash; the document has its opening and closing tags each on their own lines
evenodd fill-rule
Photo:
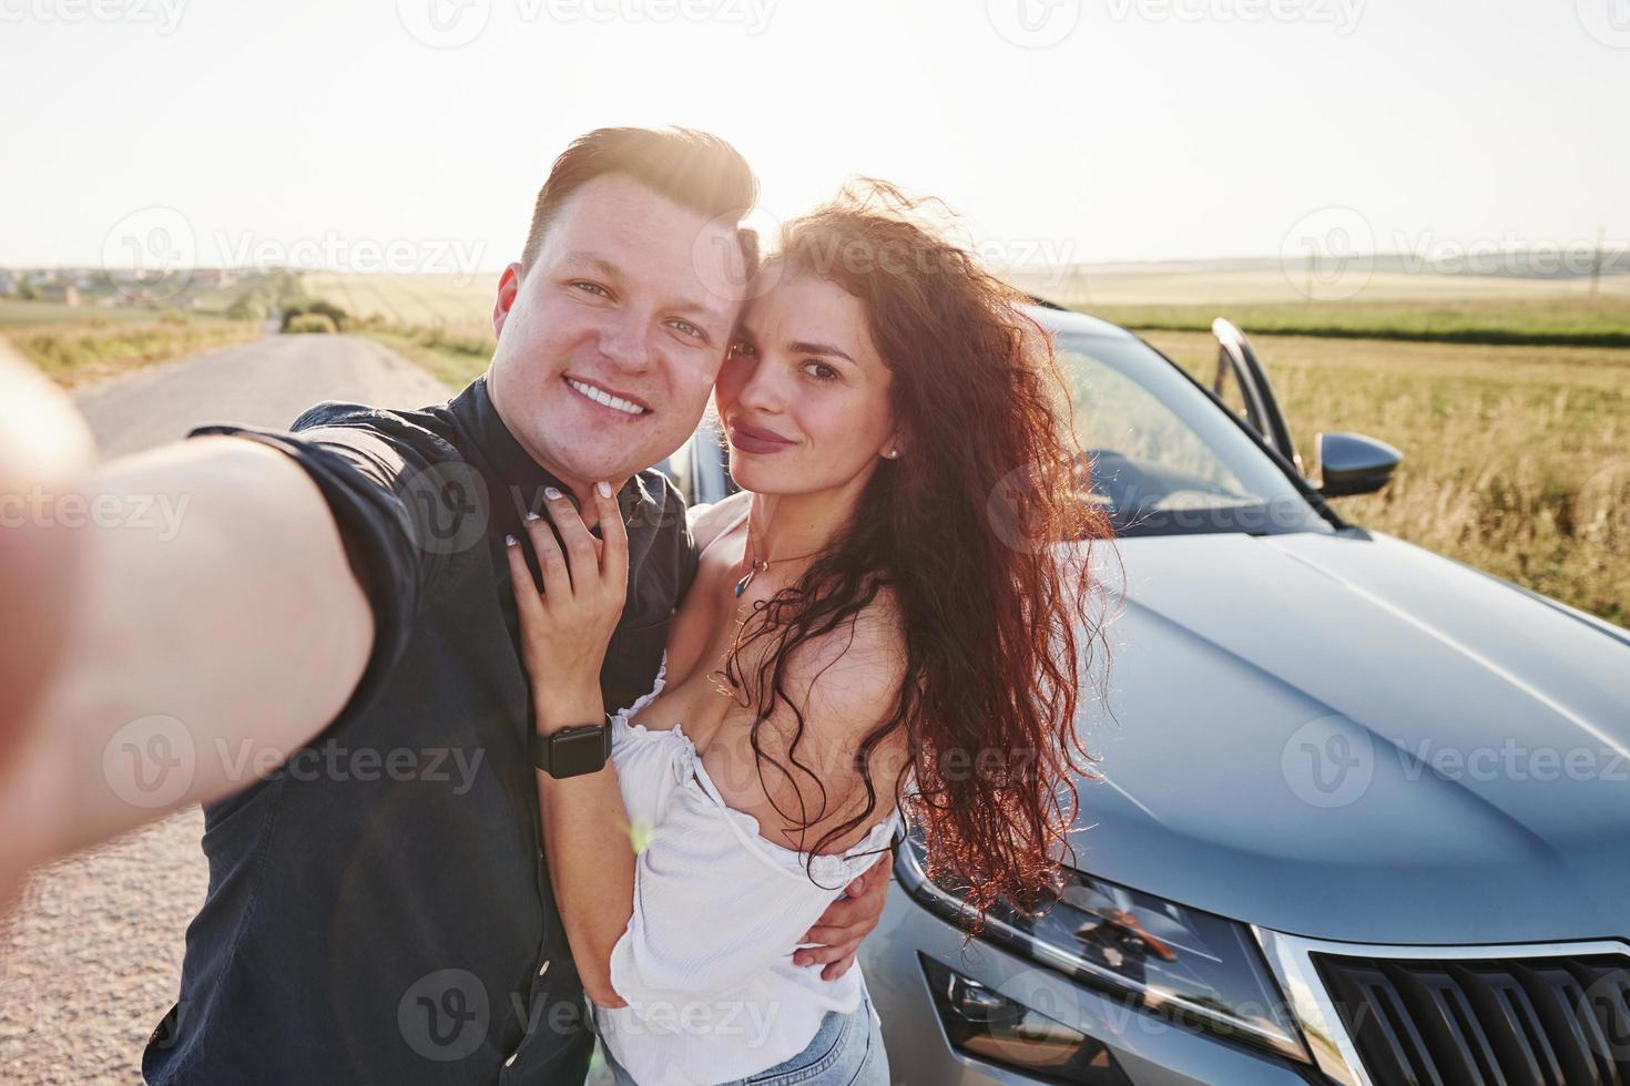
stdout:
<svg viewBox="0 0 1630 1086">
<path fill-rule="evenodd" d="M 1327 939 L 1630 936 L 1622 630 L 1358 529 L 1095 554 L 1077 866 Z"/>
</svg>

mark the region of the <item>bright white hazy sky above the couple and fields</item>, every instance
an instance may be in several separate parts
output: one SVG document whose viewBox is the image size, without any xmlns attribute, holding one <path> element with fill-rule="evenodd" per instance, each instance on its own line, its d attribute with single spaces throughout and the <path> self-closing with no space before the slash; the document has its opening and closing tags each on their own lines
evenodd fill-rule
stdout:
<svg viewBox="0 0 1630 1086">
<path fill-rule="evenodd" d="M 670 122 L 1014 262 L 1630 236 L 1630 0 L 0 0 L 0 265 L 497 269 L 570 137 Z"/>
</svg>

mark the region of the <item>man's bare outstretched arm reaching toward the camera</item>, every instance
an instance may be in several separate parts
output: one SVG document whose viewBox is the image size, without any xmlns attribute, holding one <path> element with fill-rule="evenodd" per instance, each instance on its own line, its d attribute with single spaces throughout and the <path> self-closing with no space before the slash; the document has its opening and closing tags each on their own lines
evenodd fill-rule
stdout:
<svg viewBox="0 0 1630 1086">
<path fill-rule="evenodd" d="M 0 767 L 0 894 L 34 863 L 251 783 L 339 713 L 373 645 L 328 501 L 284 453 L 197 438 L 96 469 L 82 493 L 86 523 L 34 515 L 73 552 L 60 591 L 7 615 L 67 609 Z"/>
</svg>

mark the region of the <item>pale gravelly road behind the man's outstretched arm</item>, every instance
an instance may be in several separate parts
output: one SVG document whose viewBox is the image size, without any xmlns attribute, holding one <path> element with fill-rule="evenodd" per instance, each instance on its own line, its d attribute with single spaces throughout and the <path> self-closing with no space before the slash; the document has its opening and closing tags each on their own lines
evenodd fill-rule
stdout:
<svg viewBox="0 0 1630 1086">
<path fill-rule="evenodd" d="M 192 427 L 287 427 L 324 399 L 422 407 L 448 391 L 349 335 L 269 335 L 147 366 L 77 396 L 103 456 Z M 194 808 L 34 874 L 0 933 L 0 1083 L 140 1081 L 142 1047 L 176 998 L 186 925 L 209 876 Z"/>
</svg>

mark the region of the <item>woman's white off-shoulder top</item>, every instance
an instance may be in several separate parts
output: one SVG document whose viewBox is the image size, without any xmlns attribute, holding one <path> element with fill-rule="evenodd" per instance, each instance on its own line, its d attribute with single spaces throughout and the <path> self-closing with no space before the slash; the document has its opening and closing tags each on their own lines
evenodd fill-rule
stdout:
<svg viewBox="0 0 1630 1086">
<path fill-rule="evenodd" d="M 634 723 L 667 682 L 611 718 L 611 760 L 639 856 L 634 915 L 611 951 L 626 1008 L 593 1008 L 603 1044 L 639 1083 L 724 1083 L 808 1047 L 826 1011 L 852 1013 L 856 966 L 822 980 L 794 966 L 805 931 L 888 848 L 893 811 L 841 856 L 810 856 L 758 832 L 707 777 L 683 728 Z M 812 876 L 813 874 L 813 881 Z"/>
</svg>

